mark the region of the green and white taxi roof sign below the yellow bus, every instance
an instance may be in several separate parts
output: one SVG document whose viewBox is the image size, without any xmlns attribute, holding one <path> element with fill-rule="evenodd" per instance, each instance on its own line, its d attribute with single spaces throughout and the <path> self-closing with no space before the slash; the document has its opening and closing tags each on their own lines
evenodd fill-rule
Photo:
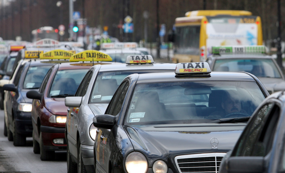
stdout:
<svg viewBox="0 0 285 173">
<path fill-rule="evenodd" d="M 220 53 L 266 53 L 266 47 L 260 46 L 213 46 L 212 54 Z"/>
</svg>

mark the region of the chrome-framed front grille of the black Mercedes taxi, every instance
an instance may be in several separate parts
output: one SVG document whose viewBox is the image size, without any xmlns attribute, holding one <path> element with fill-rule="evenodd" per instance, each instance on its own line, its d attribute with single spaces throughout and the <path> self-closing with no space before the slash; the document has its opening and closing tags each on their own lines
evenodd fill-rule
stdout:
<svg viewBox="0 0 285 173">
<path fill-rule="evenodd" d="M 226 153 L 202 153 L 175 157 L 180 173 L 218 173 L 222 158 Z"/>
</svg>

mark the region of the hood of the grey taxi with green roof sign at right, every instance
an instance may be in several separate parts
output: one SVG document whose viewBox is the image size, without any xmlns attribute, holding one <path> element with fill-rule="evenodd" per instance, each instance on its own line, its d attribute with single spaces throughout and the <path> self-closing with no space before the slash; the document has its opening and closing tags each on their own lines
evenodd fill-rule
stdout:
<svg viewBox="0 0 285 173">
<path fill-rule="evenodd" d="M 258 77 L 267 91 L 270 93 L 283 91 L 285 89 L 285 80 L 281 78 Z"/>
</svg>

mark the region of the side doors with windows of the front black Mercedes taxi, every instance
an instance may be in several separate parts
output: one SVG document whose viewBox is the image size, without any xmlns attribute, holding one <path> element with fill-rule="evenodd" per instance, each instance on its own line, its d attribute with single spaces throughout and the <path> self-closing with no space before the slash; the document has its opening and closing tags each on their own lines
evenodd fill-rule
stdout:
<svg viewBox="0 0 285 173">
<path fill-rule="evenodd" d="M 113 96 L 114 99 L 110 101 L 110 105 L 108 106 L 109 109 L 106 110 L 106 114 L 116 116 L 120 113 L 128 88 L 129 82 L 122 82 L 122 84 L 118 87 L 115 95 Z M 114 126 L 114 128 L 117 128 L 117 126 Z M 99 146 L 99 163 L 106 172 L 108 172 L 109 169 L 108 164 L 110 155 L 116 151 L 115 145 L 116 142 L 118 142 L 115 140 L 115 136 L 112 135 L 112 130 L 114 129 L 100 128 L 98 136 L 96 138 L 97 145 Z M 108 145 L 108 143 L 110 144 Z"/>
</svg>

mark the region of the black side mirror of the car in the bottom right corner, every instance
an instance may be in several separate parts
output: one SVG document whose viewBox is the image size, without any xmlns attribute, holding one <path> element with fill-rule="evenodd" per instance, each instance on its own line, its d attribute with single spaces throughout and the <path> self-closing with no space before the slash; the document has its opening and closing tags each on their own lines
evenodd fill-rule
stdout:
<svg viewBox="0 0 285 173">
<path fill-rule="evenodd" d="M 264 158 L 261 156 L 229 157 L 228 173 L 262 173 Z"/>
</svg>

